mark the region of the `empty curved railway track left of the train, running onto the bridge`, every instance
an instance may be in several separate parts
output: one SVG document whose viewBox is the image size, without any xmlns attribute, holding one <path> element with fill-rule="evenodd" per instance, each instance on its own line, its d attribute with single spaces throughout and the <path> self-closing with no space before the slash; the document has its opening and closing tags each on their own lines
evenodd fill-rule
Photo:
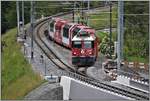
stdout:
<svg viewBox="0 0 150 101">
<path fill-rule="evenodd" d="M 59 14 L 56 16 L 63 16 L 64 14 Z M 105 89 L 111 92 L 114 92 L 116 94 L 122 95 L 122 96 L 126 96 L 132 99 L 136 99 L 136 100 L 149 100 L 149 94 L 143 91 L 139 91 L 133 88 L 129 88 L 129 89 L 122 89 L 119 87 L 114 87 L 111 84 L 107 83 L 107 82 L 101 82 L 98 81 L 94 78 L 89 78 L 86 75 L 83 75 L 83 73 L 75 73 L 75 70 L 73 69 L 73 67 L 70 67 L 68 65 L 66 65 L 65 63 L 63 63 L 63 61 L 61 59 L 59 59 L 59 57 L 54 54 L 54 52 L 47 46 L 47 44 L 44 42 L 44 40 L 42 40 L 41 38 L 41 33 L 43 33 L 43 31 L 41 30 L 42 26 L 44 24 L 47 23 L 48 20 L 50 20 L 51 17 L 48 17 L 44 20 L 41 20 L 39 22 L 37 22 L 36 26 L 35 26 L 35 34 L 34 34 L 34 41 L 36 42 L 36 44 L 40 47 L 40 49 L 46 54 L 46 56 L 60 69 L 62 69 L 62 75 L 65 76 L 69 76 L 72 78 L 75 78 L 77 80 L 80 80 L 82 82 L 91 84 L 93 86 L 96 86 L 98 88 L 101 89 Z"/>
</svg>

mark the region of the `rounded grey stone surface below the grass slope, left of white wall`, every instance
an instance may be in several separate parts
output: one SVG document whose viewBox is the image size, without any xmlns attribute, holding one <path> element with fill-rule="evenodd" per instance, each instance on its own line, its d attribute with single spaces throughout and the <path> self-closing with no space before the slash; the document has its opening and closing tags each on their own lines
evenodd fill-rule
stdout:
<svg viewBox="0 0 150 101">
<path fill-rule="evenodd" d="M 46 82 L 27 94 L 24 100 L 63 100 L 63 88 L 59 83 Z"/>
</svg>

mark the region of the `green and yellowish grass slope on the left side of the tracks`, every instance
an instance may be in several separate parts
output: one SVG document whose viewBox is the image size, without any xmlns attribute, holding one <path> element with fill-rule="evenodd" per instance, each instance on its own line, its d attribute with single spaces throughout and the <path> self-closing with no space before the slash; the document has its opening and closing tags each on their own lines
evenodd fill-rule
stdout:
<svg viewBox="0 0 150 101">
<path fill-rule="evenodd" d="M 21 45 L 16 42 L 16 28 L 2 35 L 6 45 L 2 52 L 2 99 L 14 100 L 23 97 L 44 82 L 33 72 L 31 65 L 21 53 Z"/>
</svg>

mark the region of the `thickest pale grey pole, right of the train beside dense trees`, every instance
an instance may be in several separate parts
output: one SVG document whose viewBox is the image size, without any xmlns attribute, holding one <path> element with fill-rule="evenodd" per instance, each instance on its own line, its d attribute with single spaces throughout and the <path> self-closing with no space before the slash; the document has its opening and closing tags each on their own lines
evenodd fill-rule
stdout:
<svg viewBox="0 0 150 101">
<path fill-rule="evenodd" d="M 123 53 L 123 1 L 118 1 L 118 51 L 117 68 L 120 70 L 121 55 Z"/>
</svg>

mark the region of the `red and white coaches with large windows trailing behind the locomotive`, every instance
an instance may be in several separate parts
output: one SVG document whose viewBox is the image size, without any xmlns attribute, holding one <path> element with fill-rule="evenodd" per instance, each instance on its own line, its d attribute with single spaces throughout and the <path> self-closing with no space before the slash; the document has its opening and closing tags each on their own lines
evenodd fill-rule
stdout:
<svg viewBox="0 0 150 101">
<path fill-rule="evenodd" d="M 53 18 L 49 22 L 49 36 L 59 44 L 71 48 L 71 30 L 78 24 L 69 23 L 60 18 Z"/>
</svg>

